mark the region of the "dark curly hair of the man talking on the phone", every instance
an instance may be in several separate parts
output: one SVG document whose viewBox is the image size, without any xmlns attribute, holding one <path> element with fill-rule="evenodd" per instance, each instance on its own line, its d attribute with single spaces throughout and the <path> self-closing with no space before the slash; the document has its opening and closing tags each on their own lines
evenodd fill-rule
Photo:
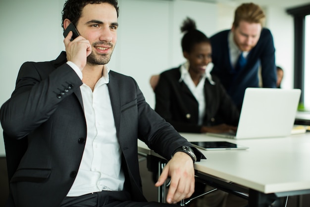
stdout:
<svg viewBox="0 0 310 207">
<path fill-rule="evenodd" d="M 117 5 L 117 0 L 66 0 L 63 6 L 63 10 L 61 12 L 62 14 L 62 22 L 61 26 L 63 28 L 63 21 L 65 19 L 69 19 L 75 26 L 78 20 L 81 17 L 81 12 L 84 6 L 86 6 L 89 3 L 109 3 L 114 6 L 117 12 L 117 17 L 118 17 L 118 12 L 119 8 Z"/>
</svg>

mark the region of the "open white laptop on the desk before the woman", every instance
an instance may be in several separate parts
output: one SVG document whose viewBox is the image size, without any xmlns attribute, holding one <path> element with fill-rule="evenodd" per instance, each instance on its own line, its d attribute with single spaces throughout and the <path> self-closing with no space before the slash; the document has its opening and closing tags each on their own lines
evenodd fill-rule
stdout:
<svg viewBox="0 0 310 207">
<path fill-rule="evenodd" d="M 236 133 L 207 133 L 224 138 L 271 138 L 291 135 L 300 89 L 247 88 Z"/>
</svg>

